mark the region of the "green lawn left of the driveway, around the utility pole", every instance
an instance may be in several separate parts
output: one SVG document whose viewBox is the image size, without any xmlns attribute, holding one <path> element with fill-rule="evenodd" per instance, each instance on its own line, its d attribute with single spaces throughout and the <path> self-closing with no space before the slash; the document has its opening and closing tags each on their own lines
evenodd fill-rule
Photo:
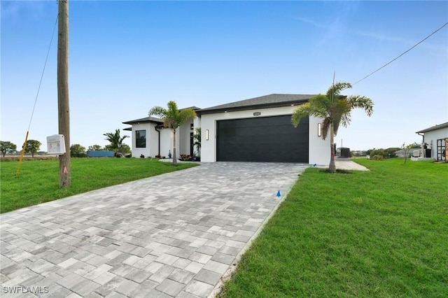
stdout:
<svg viewBox="0 0 448 298">
<path fill-rule="evenodd" d="M 57 159 L 24 161 L 18 176 L 18 162 L 1 162 L 0 213 L 191 166 L 147 158 L 73 158 L 71 187 L 62 189 Z"/>
</svg>

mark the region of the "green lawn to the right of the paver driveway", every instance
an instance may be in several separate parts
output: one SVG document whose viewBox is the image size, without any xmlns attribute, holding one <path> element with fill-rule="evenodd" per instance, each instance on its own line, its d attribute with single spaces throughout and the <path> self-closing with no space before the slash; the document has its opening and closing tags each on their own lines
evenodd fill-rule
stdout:
<svg viewBox="0 0 448 298">
<path fill-rule="evenodd" d="M 448 164 L 307 169 L 220 297 L 447 297 Z"/>
</svg>

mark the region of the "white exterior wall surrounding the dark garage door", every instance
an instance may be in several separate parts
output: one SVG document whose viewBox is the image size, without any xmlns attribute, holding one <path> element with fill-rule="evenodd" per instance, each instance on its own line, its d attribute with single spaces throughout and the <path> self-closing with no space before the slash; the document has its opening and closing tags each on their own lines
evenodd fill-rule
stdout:
<svg viewBox="0 0 448 298">
<path fill-rule="evenodd" d="M 296 107 L 258 108 L 247 111 L 201 115 L 201 162 L 216 162 L 216 121 L 292 115 Z M 254 116 L 253 113 L 255 112 L 260 112 L 260 115 Z M 317 136 L 318 122 L 320 121 L 316 118 L 310 117 L 309 119 L 309 163 L 328 166 L 330 163 L 330 139 L 323 141 L 321 137 Z M 207 129 L 209 129 L 209 140 L 206 139 Z"/>
</svg>

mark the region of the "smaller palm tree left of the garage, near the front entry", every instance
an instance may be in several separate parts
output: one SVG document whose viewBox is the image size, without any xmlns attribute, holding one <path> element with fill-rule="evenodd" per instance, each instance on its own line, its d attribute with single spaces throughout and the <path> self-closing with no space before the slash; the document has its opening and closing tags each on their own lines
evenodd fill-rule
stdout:
<svg viewBox="0 0 448 298">
<path fill-rule="evenodd" d="M 149 116 L 156 115 L 163 120 L 163 126 L 173 129 L 173 164 L 177 165 L 176 158 L 176 129 L 183 125 L 186 120 L 196 118 L 196 112 L 192 108 L 184 108 L 179 111 L 177 104 L 174 101 L 168 102 L 168 108 L 162 108 L 161 106 L 155 106 L 148 112 Z"/>
</svg>

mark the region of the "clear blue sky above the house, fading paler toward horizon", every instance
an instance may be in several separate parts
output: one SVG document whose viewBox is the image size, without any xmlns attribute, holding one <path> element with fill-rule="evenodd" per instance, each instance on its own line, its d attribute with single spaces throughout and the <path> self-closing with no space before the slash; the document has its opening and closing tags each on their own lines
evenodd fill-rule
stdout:
<svg viewBox="0 0 448 298">
<path fill-rule="evenodd" d="M 25 141 L 56 1 L 1 1 L 1 136 Z M 447 1 L 69 1 L 71 143 L 174 100 L 207 108 L 356 83 L 448 22 Z M 57 134 L 57 34 L 29 139 Z M 448 26 L 347 90 L 374 101 L 335 141 L 351 150 L 420 142 L 448 121 Z M 130 135 L 130 132 L 122 132 Z M 125 143 L 130 144 L 130 139 Z"/>
</svg>

